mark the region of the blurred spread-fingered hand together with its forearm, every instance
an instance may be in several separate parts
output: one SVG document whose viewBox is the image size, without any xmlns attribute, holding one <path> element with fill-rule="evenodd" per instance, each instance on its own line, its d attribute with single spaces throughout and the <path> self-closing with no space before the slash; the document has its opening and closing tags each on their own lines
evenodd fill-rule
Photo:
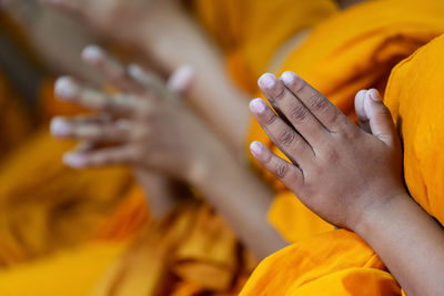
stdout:
<svg viewBox="0 0 444 296">
<path fill-rule="evenodd" d="M 94 64 L 124 92 L 111 96 L 72 79 L 58 81 L 61 99 L 100 112 L 92 118 L 53 120 L 56 136 L 89 143 L 65 155 L 68 165 L 85 169 L 129 164 L 138 175 L 155 172 L 174 176 L 202 192 L 258 257 L 286 245 L 265 221 L 273 193 L 205 127 L 178 92 L 171 91 L 188 88 L 189 71 L 179 70 L 167 89 L 138 67 L 122 72 L 109 59 Z M 155 183 L 155 176 L 152 178 Z M 147 192 L 150 196 L 151 191 Z M 173 200 L 163 202 L 150 200 L 160 213 L 176 204 Z"/>
</svg>

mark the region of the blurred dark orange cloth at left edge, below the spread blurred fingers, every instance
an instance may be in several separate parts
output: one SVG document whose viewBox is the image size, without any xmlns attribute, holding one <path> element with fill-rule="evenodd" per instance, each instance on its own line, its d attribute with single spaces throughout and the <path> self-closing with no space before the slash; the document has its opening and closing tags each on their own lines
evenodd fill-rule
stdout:
<svg viewBox="0 0 444 296">
<path fill-rule="evenodd" d="M 0 164 L 0 264 L 30 261 L 90 238 L 131 181 L 123 169 L 75 171 L 71 143 L 37 133 Z"/>
</svg>

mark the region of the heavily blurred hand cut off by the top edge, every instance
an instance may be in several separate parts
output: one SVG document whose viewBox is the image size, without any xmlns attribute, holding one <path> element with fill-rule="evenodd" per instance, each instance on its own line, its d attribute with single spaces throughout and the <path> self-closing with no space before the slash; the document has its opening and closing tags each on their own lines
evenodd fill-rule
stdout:
<svg viewBox="0 0 444 296">
<path fill-rule="evenodd" d="M 147 34 L 161 33 L 181 9 L 179 0 L 40 0 L 85 22 L 98 34 L 137 43 Z"/>
</svg>

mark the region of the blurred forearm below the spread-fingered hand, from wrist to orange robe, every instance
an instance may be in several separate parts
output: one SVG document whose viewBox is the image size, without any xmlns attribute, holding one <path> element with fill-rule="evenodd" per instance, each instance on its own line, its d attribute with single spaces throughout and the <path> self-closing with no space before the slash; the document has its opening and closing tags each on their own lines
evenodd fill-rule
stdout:
<svg viewBox="0 0 444 296">
<path fill-rule="evenodd" d="M 192 183 L 259 258 L 287 245 L 266 221 L 273 192 L 228 152 L 219 153 Z"/>
</svg>

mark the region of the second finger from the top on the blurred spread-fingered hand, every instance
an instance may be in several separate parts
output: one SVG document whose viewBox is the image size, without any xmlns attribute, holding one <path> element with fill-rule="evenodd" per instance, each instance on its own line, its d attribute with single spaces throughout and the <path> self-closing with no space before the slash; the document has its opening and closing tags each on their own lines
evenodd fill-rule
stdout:
<svg viewBox="0 0 444 296">
<path fill-rule="evenodd" d="M 87 109 L 109 112 L 113 115 L 131 116 L 141 108 L 141 102 L 135 96 L 109 96 L 103 92 L 83 88 L 70 78 L 60 78 L 56 82 L 56 95 Z"/>
</svg>

